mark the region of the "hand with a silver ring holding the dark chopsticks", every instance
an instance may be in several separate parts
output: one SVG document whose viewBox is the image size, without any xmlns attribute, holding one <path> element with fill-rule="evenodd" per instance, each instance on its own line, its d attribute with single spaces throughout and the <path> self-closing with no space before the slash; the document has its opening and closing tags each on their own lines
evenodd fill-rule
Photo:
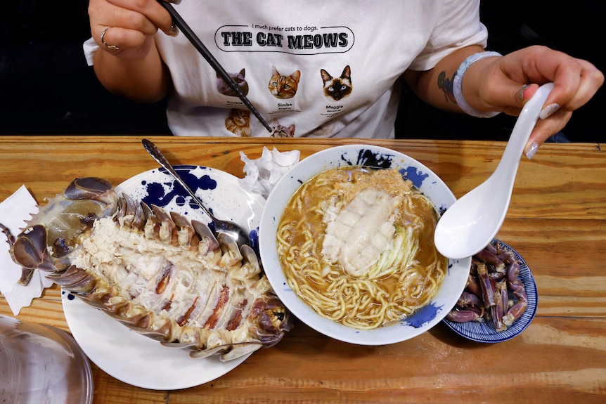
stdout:
<svg viewBox="0 0 606 404">
<path fill-rule="evenodd" d="M 157 0 L 90 0 L 89 19 L 99 47 L 125 59 L 143 57 L 159 29 L 173 36 L 178 33 Z"/>
</svg>

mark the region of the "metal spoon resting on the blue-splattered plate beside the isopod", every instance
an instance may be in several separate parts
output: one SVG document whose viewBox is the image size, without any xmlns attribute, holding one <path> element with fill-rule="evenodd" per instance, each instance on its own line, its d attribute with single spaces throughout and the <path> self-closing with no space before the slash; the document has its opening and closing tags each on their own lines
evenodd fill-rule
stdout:
<svg viewBox="0 0 606 404">
<path fill-rule="evenodd" d="M 214 225 L 215 233 L 225 233 L 229 237 L 233 238 L 233 240 L 236 240 L 236 244 L 238 244 L 238 247 L 242 247 L 242 245 L 251 245 L 248 232 L 244 230 L 241 226 L 236 223 L 233 223 L 233 221 L 217 219 L 212 213 L 210 213 L 210 211 L 204 206 L 200 198 L 198 198 L 195 193 L 193 193 L 193 190 L 191 190 L 191 188 L 188 187 L 188 185 L 185 183 L 185 181 L 183 181 L 179 174 L 177 174 L 174 167 L 172 167 L 172 165 L 168 162 L 168 159 L 165 157 L 165 155 L 162 154 L 160 149 L 157 148 L 154 143 L 148 141 L 148 139 L 143 139 L 141 143 L 143 143 L 143 147 L 146 148 L 151 157 L 153 157 L 155 161 L 160 163 L 162 167 L 167 169 L 167 171 L 172 174 L 172 176 L 174 176 L 176 181 L 181 184 L 183 188 L 185 188 L 187 193 L 191 196 L 192 200 L 196 204 L 198 204 L 199 207 L 202 208 L 205 214 L 209 216 Z"/>
</svg>

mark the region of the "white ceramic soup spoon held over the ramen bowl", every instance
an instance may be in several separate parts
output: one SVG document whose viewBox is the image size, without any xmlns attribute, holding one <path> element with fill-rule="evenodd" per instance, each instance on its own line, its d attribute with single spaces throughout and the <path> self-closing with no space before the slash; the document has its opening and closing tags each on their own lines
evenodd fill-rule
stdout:
<svg viewBox="0 0 606 404">
<path fill-rule="evenodd" d="M 484 249 L 498 233 L 507 214 L 524 145 L 552 89 L 553 83 L 544 84 L 524 105 L 494 173 L 441 216 L 434 242 L 442 255 L 451 259 L 472 256 Z"/>
</svg>

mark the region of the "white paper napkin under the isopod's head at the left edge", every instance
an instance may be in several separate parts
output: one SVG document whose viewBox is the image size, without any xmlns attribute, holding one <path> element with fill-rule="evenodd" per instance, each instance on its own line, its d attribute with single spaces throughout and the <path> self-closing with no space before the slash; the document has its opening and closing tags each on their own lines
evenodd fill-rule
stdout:
<svg viewBox="0 0 606 404">
<path fill-rule="evenodd" d="M 36 200 L 22 185 L 13 195 L 0 203 L 0 223 L 11 229 L 13 235 L 18 235 L 25 226 L 25 221 L 31 219 L 31 214 L 38 211 Z M 40 297 L 44 288 L 53 285 L 46 279 L 44 273 L 34 271 L 32 280 L 27 286 L 18 285 L 21 278 L 21 267 L 13 262 L 9 252 L 8 242 L 4 233 L 0 233 L 0 293 L 8 302 L 14 315 L 21 308 L 30 306 L 32 300 Z"/>
</svg>

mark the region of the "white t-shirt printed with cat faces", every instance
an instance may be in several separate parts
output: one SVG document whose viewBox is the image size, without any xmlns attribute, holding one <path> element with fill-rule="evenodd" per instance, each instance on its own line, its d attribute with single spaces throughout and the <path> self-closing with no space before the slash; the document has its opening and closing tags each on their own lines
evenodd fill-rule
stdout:
<svg viewBox="0 0 606 404">
<path fill-rule="evenodd" d="M 479 0 L 195 0 L 174 7 L 283 136 L 393 138 L 401 74 L 429 70 L 457 48 L 485 46 L 487 37 Z M 269 136 L 182 32 L 159 32 L 155 40 L 174 84 L 167 109 L 174 135 Z M 91 41 L 85 50 L 91 63 Z"/>
</svg>

